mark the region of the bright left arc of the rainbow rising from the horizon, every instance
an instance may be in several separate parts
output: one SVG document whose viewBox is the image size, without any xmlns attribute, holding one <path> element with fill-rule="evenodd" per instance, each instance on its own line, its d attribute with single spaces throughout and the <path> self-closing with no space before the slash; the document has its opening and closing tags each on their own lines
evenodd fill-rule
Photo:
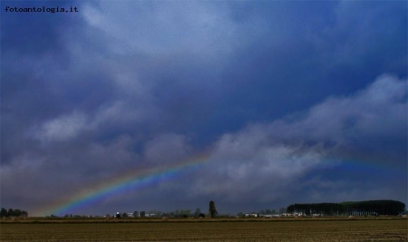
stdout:
<svg viewBox="0 0 408 242">
<path fill-rule="evenodd" d="M 181 171 L 197 169 L 208 160 L 207 155 L 195 156 L 188 161 L 172 164 L 171 166 L 160 166 L 152 169 L 137 169 L 121 173 L 112 179 L 104 180 L 94 186 L 88 186 L 73 194 L 69 199 L 57 201 L 45 205 L 44 208 L 34 212 L 35 215 L 58 215 L 73 213 L 81 208 L 102 202 L 106 198 L 123 194 L 127 191 L 139 189 L 147 185 L 156 184 L 160 181 L 171 179 L 180 174 Z"/>
</svg>

